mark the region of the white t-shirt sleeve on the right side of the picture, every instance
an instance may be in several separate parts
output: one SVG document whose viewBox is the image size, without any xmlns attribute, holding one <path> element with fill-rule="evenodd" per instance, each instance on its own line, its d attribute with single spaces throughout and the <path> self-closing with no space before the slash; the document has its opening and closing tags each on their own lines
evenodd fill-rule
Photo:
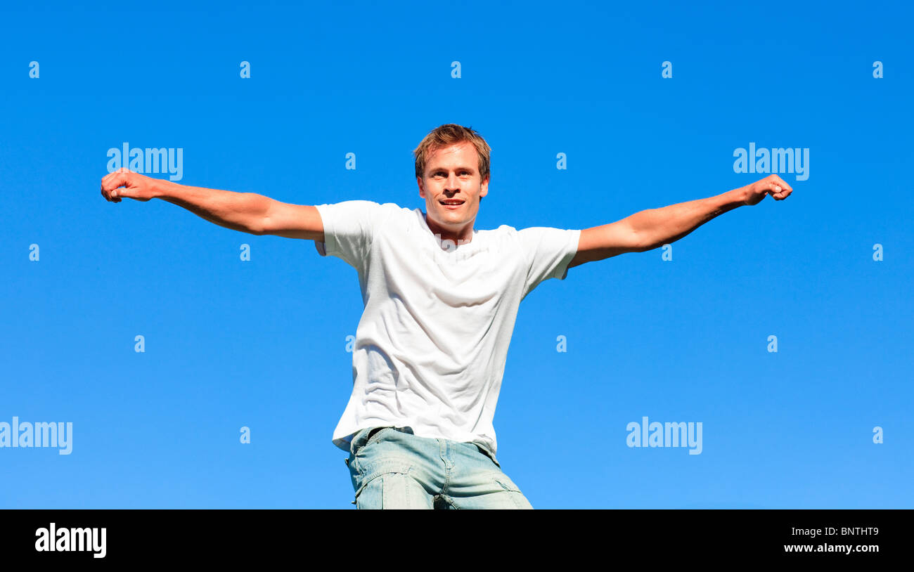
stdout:
<svg viewBox="0 0 914 572">
<path fill-rule="evenodd" d="M 524 296 L 542 281 L 550 278 L 565 280 L 569 262 L 578 253 L 580 230 L 531 227 L 518 230 L 521 248 L 526 256 Z"/>
</svg>

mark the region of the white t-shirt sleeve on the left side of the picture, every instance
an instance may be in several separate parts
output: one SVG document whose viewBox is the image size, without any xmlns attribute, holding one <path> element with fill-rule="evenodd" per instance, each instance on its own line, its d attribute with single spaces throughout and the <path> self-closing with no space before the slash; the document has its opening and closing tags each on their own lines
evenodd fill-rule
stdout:
<svg viewBox="0 0 914 572">
<path fill-rule="evenodd" d="M 324 242 L 314 240 L 318 254 L 335 256 L 359 272 L 364 270 L 381 205 L 374 201 L 353 200 L 315 207 L 324 223 Z"/>
</svg>

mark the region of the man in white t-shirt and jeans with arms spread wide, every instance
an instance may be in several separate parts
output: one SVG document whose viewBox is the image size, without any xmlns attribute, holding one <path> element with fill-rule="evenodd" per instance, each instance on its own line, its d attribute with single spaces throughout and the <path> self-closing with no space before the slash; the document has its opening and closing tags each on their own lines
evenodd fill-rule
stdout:
<svg viewBox="0 0 914 572">
<path fill-rule="evenodd" d="M 349 453 L 357 508 L 532 508 L 495 457 L 492 424 L 520 302 L 571 267 L 655 249 L 732 208 L 792 193 L 770 175 L 600 227 L 476 230 L 489 145 L 447 124 L 414 154 L 425 212 L 358 200 L 292 205 L 125 170 L 101 179 L 110 201 L 159 197 L 223 227 L 314 240 L 321 256 L 358 271 L 365 310 L 354 383 L 333 436 Z"/>
</svg>

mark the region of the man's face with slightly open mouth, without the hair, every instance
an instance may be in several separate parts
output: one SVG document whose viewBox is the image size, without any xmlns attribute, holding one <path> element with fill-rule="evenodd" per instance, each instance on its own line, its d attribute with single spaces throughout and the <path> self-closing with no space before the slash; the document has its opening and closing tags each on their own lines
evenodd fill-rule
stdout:
<svg viewBox="0 0 914 572">
<path fill-rule="evenodd" d="M 488 192 L 489 177 L 483 180 L 479 175 L 479 154 L 470 142 L 433 151 L 425 165 L 425 175 L 419 179 L 426 222 L 443 238 L 473 234 L 479 198 Z M 452 202 L 458 204 L 447 204 Z"/>
</svg>

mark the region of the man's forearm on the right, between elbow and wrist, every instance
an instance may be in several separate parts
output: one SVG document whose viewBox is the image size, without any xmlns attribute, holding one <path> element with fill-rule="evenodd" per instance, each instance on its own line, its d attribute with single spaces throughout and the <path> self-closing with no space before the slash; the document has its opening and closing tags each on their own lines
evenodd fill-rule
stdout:
<svg viewBox="0 0 914 572">
<path fill-rule="evenodd" d="M 722 195 L 700 198 L 662 208 L 649 208 L 628 217 L 638 241 L 645 250 L 669 244 L 685 237 L 717 215 L 742 207 L 746 200 L 746 187 Z"/>
</svg>

